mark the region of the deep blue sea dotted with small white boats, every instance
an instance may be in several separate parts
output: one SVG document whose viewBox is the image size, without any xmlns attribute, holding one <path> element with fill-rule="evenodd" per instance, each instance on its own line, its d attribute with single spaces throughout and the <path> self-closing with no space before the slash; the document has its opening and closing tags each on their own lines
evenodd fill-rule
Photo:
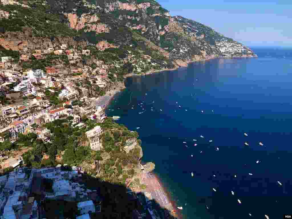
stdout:
<svg viewBox="0 0 292 219">
<path fill-rule="evenodd" d="M 292 214 L 292 48 L 252 49 L 128 77 L 106 110 L 139 133 L 184 219 Z"/>
</svg>

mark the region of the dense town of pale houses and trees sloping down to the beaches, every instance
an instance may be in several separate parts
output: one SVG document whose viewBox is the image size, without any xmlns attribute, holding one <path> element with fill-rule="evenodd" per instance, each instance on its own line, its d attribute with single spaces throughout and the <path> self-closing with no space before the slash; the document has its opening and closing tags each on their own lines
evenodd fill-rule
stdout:
<svg viewBox="0 0 292 219">
<path fill-rule="evenodd" d="M 1 57 L 1 218 L 111 218 L 113 210 L 102 209 L 111 204 L 107 195 L 124 195 L 112 218 L 159 218 L 142 184 L 154 164 L 141 165 L 138 133 L 105 115 L 123 80 L 102 62 L 94 68 L 25 68 L 48 56 L 71 61 L 90 53 L 62 44 Z M 114 185 L 120 192 L 107 194 Z M 50 211 L 56 206 L 60 215 Z"/>
</svg>

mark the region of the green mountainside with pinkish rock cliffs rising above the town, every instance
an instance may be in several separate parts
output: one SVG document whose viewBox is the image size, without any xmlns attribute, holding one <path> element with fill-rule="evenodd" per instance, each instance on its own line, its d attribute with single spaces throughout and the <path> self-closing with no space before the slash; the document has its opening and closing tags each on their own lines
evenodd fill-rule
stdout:
<svg viewBox="0 0 292 219">
<path fill-rule="evenodd" d="M 0 45 L 7 50 L 32 51 L 61 44 L 86 49 L 90 45 L 92 58 L 103 57 L 105 64 L 134 64 L 126 73 L 216 57 L 256 57 L 249 48 L 210 27 L 171 17 L 153 0 L 1 3 Z"/>
</svg>

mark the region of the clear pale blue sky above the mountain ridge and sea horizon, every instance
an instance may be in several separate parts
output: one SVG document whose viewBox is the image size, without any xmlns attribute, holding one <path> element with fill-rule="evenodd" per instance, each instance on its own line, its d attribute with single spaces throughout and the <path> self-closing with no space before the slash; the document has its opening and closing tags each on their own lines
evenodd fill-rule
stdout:
<svg viewBox="0 0 292 219">
<path fill-rule="evenodd" d="M 246 46 L 292 47 L 292 0 L 158 0 Z"/>
</svg>

